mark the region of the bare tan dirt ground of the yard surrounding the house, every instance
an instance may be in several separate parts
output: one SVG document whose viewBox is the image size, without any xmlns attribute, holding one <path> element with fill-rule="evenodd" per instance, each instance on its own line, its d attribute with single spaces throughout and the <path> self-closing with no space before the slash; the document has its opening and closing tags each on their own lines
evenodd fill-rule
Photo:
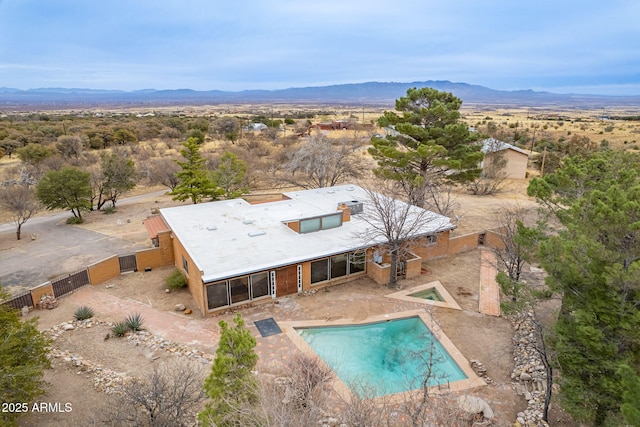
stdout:
<svg viewBox="0 0 640 427">
<path fill-rule="evenodd" d="M 522 196 L 522 184 L 497 197 L 477 197 L 462 194 L 458 197 L 459 229 L 456 233 L 482 230 L 495 226 L 495 213 L 504 203 L 518 203 L 530 208 L 535 205 Z M 118 212 L 89 218 L 83 226 L 109 235 L 126 235 L 132 239 L 147 239 L 142 220 L 151 215 L 151 209 L 170 205 L 166 196 L 143 198 L 140 203 L 122 206 Z M 108 221 L 103 221 L 108 218 Z M 512 425 L 516 414 L 526 408 L 523 397 L 512 388 L 510 374 L 513 368 L 510 322 L 503 317 L 485 316 L 478 313 L 480 257 L 471 251 L 455 257 L 442 258 L 425 263 L 425 274 L 402 282 L 410 288 L 439 280 L 456 299 L 462 311 L 434 307 L 434 318 L 444 333 L 467 358 L 477 359 L 487 368 L 492 383 L 473 390 L 472 394 L 485 399 L 496 412 L 495 425 Z M 165 292 L 164 278 L 171 268 L 136 272 L 94 287 L 85 287 L 70 296 L 60 299 L 54 310 L 34 311 L 29 317 L 38 316 L 41 329 L 48 329 L 70 321 L 75 309 L 87 301 L 102 301 L 102 306 L 92 306 L 98 321 L 121 320 L 131 310 L 142 312 L 147 317 L 146 329 L 151 334 L 169 341 L 190 346 L 212 355 L 215 352 L 220 319 L 230 321 L 233 313 L 203 319 L 195 309 L 191 295 L 186 290 Z M 247 326 L 257 339 L 256 351 L 260 356 L 258 369 L 268 371 L 281 365 L 293 352 L 295 346 L 284 334 L 261 337 L 253 325 L 255 320 L 273 317 L 282 321 L 349 318 L 362 320 L 372 315 L 422 308 L 421 304 L 386 298 L 392 290 L 376 285 L 369 279 L 359 279 L 348 284 L 321 290 L 311 296 L 291 296 L 275 301 L 240 309 Z M 196 311 L 190 316 L 177 313 L 175 304 L 184 304 Z M 552 308 L 548 311 L 551 312 Z M 182 356 L 134 345 L 126 339 L 104 340 L 108 327 L 97 325 L 90 329 L 78 328 L 65 332 L 54 347 L 130 376 L 148 372 L 154 364 L 170 362 Z M 186 333 L 189 332 L 189 333 Z M 206 365 L 207 370 L 210 365 Z M 47 371 L 49 382 L 45 402 L 71 403 L 70 413 L 29 414 L 20 420 L 24 426 L 54 425 L 100 425 L 96 413 L 105 402 L 105 395 L 93 387 L 91 375 L 79 371 L 73 365 L 56 359 L 53 369 Z M 552 425 L 572 425 L 562 422 L 562 414 Z M 96 422 L 94 424 L 94 422 Z"/>
</svg>

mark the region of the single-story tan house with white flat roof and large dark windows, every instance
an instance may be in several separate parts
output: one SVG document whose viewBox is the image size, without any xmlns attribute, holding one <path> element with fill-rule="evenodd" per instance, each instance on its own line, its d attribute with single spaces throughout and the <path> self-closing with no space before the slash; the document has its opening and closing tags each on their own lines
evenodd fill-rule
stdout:
<svg viewBox="0 0 640 427">
<path fill-rule="evenodd" d="M 398 202 L 406 206 L 404 202 Z M 367 192 L 356 185 L 292 191 L 280 200 L 244 199 L 160 209 L 145 221 L 154 244 L 173 254 L 204 316 L 230 306 L 276 298 L 369 276 L 388 283 L 386 241 L 365 241 L 371 226 Z M 411 207 L 429 220 L 412 235 L 405 277 L 423 259 L 445 256 L 449 218 Z"/>
</svg>

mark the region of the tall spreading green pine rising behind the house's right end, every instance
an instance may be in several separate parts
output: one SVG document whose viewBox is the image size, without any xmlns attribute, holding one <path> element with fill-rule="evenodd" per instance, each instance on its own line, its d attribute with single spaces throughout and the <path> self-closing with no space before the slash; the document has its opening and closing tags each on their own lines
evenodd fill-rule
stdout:
<svg viewBox="0 0 640 427">
<path fill-rule="evenodd" d="M 443 181 L 465 183 L 480 176 L 481 146 L 460 121 L 462 101 L 432 88 L 409 89 L 396 100 L 396 111 L 378 119 L 395 131 L 373 138 L 369 153 L 376 175 L 402 184 L 412 204 L 424 207 L 429 190 Z"/>
</svg>

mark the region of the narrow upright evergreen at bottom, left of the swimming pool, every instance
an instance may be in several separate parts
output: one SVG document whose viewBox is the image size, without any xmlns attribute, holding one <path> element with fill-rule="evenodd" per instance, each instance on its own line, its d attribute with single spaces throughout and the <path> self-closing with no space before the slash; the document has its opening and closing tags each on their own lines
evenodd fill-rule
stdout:
<svg viewBox="0 0 640 427">
<path fill-rule="evenodd" d="M 258 363 L 254 351 L 256 339 L 245 329 L 240 313 L 233 323 L 233 327 L 224 320 L 218 323 L 220 342 L 211 374 L 204 383 L 204 391 L 211 401 L 198 416 L 204 426 L 242 425 L 240 409 L 258 399 L 251 372 Z"/>
</svg>

